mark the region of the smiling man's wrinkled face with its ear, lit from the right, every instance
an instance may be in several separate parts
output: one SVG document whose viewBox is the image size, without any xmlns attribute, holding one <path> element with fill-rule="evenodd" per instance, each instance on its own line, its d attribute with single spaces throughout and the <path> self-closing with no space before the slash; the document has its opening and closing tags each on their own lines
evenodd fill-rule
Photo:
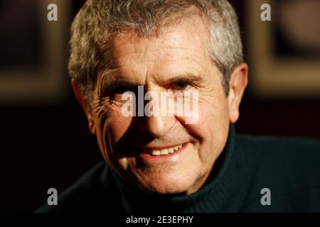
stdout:
<svg viewBox="0 0 320 227">
<path fill-rule="evenodd" d="M 161 194 L 191 194 L 206 182 L 225 147 L 230 122 L 238 119 L 247 82 L 247 66 L 241 65 L 226 96 L 207 40 L 206 23 L 191 16 L 158 37 L 123 33 L 107 50 L 106 58 L 112 60 L 100 70 L 92 110 L 86 112 L 103 157 L 127 182 Z M 124 116 L 122 93 L 138 85 L 145 92 L 198 92 L 198 121 Z M 165 148 L 174 153 L 159 155 Z"/>
</svg>

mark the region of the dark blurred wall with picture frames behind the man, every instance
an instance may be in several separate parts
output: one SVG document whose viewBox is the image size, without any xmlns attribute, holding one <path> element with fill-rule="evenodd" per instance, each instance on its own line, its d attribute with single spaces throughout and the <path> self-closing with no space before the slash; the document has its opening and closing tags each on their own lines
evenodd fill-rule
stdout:
<svg viewBox="0 0 320 227">
<path fill-rule="evenodd" d="M 0 1 L 0 211 L 33 211 L 50 187 L 62 192 L 102 160 L 66 70 L 68 28 L 83 2 Z M 320 7 L 274 1 L 263 22 L 253 0 L 230 2 L 250 66 L 236 131 L 320 139 Z M 49 3 L 58 21 L 47 20 Z"/>
</svg>

